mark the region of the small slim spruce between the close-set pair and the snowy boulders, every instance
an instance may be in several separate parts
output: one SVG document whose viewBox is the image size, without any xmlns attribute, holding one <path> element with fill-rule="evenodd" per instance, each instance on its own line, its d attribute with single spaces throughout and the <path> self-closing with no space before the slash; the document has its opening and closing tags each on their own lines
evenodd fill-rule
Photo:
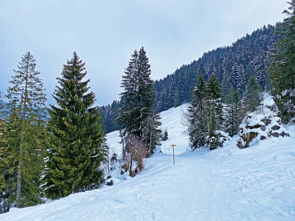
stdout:
<svg viewBox="0 0 295 221">
<path fill-rule="evenodd" d="M 237 134 L 239 130 L 239 124 L 241 123 L 241 99 L 239 92 L 231 87 L 229 93 L 225 97 L 225 132 L 228 132 L 231 137 Z"/>
</svg>

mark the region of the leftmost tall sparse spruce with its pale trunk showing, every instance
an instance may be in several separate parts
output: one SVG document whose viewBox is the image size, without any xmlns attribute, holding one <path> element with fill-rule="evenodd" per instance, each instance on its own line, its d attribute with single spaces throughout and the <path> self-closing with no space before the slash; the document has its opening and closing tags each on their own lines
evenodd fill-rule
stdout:
<svg viewBox="0 0 295 221">
<path fill-rule="evenodd" d="M 7 210 L 10 203 L 20 208 L 42 202 L 39 185 L 46 156 L 46 96 L 35 66 L 33 55 L 27 52 L 7 89 L 7 125 L 2 133 L 5 142 L 1 143 L 0 159 L 4 174 L 0 189 L 6 193 Z"/>
</svg>

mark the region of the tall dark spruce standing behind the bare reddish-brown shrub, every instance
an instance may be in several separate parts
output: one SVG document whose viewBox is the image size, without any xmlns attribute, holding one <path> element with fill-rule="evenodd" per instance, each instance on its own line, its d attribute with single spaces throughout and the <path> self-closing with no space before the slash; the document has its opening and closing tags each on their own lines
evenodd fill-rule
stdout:
<svg viewBox="0 0 295 221">
<path fill-rule="evenodd" d="M 149 153 L 152 153 L 160 140 L 158 127 L 161 123 L 159 115 L 154 111 L 156 97 L 153 81 L 150 79 L 150 64 L 144 48 L 139 53 L 135 50 L 131 56 L 121 83 L 124 90 L 120 94 L 123 107 L 117 119 L 122 128 L 120 137 L 123 149 L 124 139 L 133 136 L 139 138 Z M 122 152 L 124 155 L 124 150 Z"/>
</svg>

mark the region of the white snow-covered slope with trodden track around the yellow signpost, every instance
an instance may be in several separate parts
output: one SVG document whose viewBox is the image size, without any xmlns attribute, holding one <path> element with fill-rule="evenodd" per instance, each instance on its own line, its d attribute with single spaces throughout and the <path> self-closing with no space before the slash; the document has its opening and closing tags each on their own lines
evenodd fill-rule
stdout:
<svg viewBox="0 0 295 221">
<path fill-rule="evenodd" d="M 47 204 L 13 208 L 0 220 L 295 220 L 295 126 L 287 128 L 290 138 L 270 138 L 246 149 L 232 139 L 213 151 L 190 152 L 180 135 L 181 108 L 161 113 L 169 139 L 164 153 L 149 158 L 141 174 Z M 119 153 L 116 133 L 108 138 Z M 177 144 L 175 166 L 170 144 Z"/>
</svg>

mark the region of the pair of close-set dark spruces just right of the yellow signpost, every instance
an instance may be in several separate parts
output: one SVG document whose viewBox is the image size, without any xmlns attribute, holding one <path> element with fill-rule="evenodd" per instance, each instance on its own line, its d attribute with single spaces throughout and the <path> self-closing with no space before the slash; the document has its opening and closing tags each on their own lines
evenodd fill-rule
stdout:
<svg viewBox="0 0 295 221">
<path fill-rule="evenodd" d="M 193 91 L 194 99 L 184 113 L 184 124 L 192 148 L 201 146 L 214 147 L 218 144 L 218 134 L 223 124 L 222 92 L 220 84 L 212 74 L 205 83 L 204 76 L 199 75 Z"/>
</svg>

